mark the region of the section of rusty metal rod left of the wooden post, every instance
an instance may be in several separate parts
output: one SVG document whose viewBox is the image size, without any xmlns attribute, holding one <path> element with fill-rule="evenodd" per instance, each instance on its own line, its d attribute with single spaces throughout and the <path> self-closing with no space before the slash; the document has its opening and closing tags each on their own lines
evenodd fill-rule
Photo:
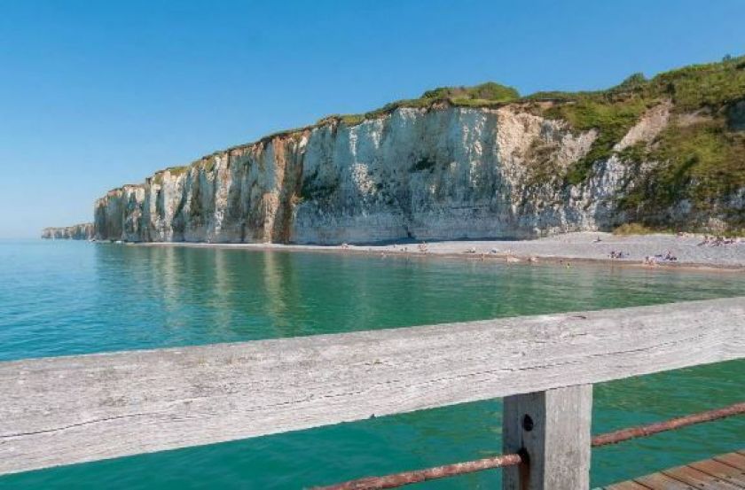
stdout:
<svg viewBox="0 0 745 490">
<path fill-rule="evenodd" d="M 501 455 L 469 461 L 467 463 L 445 464 L 435 466 L 427 470 L 404 471 L 384 477 L 360 478 L 331 486 L 317 486 L 313 490 L 377 490 L 379 488 L 396 488 L 397 486 L 411 485 L 428 479 L 454 477 L 473 473 L 474 471 L 491 470 L 512 466 L 522 462 L 521 455 Z"/>
</svg>

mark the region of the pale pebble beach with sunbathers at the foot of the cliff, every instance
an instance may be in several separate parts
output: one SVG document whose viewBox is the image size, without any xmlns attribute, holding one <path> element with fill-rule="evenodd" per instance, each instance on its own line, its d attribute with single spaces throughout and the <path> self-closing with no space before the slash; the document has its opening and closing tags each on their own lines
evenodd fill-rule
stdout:
<svg viewBox="0 0 745 490">
<path fill-rule="evenodd" d="M 595 242 L 600 237 L 600 242 Z M 631 235 L 617 237 L 610 233 L 575 232 L 535 240 L 444 240 L 420 244 L 398 242 L 385 245 L 285 245 L 226 244 L 205 242 L 144 242 L 126 243 L 132 246 L 185 246 L 220 248 L 256 252 L 286 251 L 313 253 L 343 253 L 378 257 L 465 259 L 468 261 L 498 261 L 509 264 L 537 265 L 541 263 L 571 267 L 619 266 L 648 270 L 702 270 L 745 272 L 745 243 L 733 245 L 697 245 L 702 236 Z M 611 259 L 611 250 L 627 254 L 623 259 Z M 642 252 L 648 250 L 647 253 Z M 678 261 L 644 264 L 644 257 L 668 250 Z M 475 251 L 475 252 L 474 252 Z"/>
</svg>

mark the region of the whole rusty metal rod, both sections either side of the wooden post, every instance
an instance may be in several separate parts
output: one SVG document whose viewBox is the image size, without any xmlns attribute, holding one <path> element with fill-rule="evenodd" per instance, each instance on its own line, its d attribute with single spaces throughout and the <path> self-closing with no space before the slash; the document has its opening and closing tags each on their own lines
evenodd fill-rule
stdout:
<svg viewBox="0 0 745 490">
<path fill-rule="evenodd" d="M 592 447 L 608 446 L 629 439 L 647 437 L 659 432 L 673 431 L 686 425 L 702 424 L 711 422 L 727 416 L 745 414 L 745 402 L 735 403 L 729 407 L 708 410 L 690 416 L 680 416 L 665 422 L 631 427 L 615 432 L 606 432 L 592 438 Z M 501 455 L 489 458 L 469 461 L 466 463 L 446 464 L 435 466 L 427 470 L 404 471 L 384 477 L 368 477 L 349 480 L 332 486 L 317 486 L 313 490 L 378 490 L 380 488 L 396 488 L 398 486 L 411 485 L 428 479 L 454 477 L 473 473 L 475 471 L 503 468 L 522 463 L 521 455 Z"/>
</svg>

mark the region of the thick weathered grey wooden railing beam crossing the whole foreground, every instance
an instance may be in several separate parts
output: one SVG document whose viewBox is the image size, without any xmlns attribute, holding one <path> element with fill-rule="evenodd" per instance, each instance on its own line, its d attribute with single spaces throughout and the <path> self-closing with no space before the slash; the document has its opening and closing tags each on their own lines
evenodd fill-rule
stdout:
<svg viewBox="0 0 745 490">
<path fill-rule="evenodd" d="M 745 356 L 745 299 L 0 363 L 0 473 Z"/>
</svg>

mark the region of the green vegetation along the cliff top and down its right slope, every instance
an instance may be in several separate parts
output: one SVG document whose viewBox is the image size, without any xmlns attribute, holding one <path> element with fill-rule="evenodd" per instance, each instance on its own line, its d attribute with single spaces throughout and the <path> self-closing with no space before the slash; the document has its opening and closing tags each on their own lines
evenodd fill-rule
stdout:
<svg viewBox="0 0 745 490">
<path fill-rule="evenodd" d="M 331 122 L 354 126 L 402 107 L 518 105 L 521 110 L 566 121 L 575 130 L 597 132 L 590 152 L 569 169 L 552 166 L 548 160 L 542 165 L 545 178 L 552 178 L 553 172 L 553 177 L 563 179 L 565 184 L 580 184 L 592 176 L 595 162 L 614 154 L 614 146 L 647 109 L 667 101 L 671 103 L 670 123 L 655 141 L 617 153 L 628 165 L 639 167 L 642 162 L 656 162 L 639 177 L 640 183 L 630 187 L 623 198 L 623 208 L 631 215 L 648 217 L 681 198 L 702 207 L 745 186 L 745 121 L 728 120 L 736 104 L 745 105 L 745 57 L 686 66 L 652 79 L 632 74 L 616 87 L 596 91 L 537 92 L 521 97 L 516 89 L 494 82 L 474 87 L 441 87 L 368 113 L 330 115 L 309 127 L 281 131 L 261 141 L 297 136 L 303 130 Z M 550 152 L 545 158 L 550 158 Z M 213 167 L 213 160 L 200 159 L 192 166 Z M 169 171 L 183 173 L 192 166 L 171 167 Z"/>
</svg>

